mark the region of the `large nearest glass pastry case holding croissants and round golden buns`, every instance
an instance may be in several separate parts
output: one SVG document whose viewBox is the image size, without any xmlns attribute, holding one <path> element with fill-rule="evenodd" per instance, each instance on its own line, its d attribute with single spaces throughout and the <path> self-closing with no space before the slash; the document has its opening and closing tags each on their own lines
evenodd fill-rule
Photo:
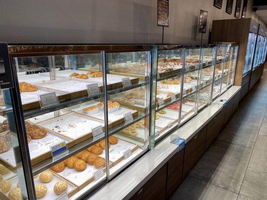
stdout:
<svg viewBox="0 0 267 200">
<path fill-rule="evenodd" d="M 81 198 L 148 150 L 152 50 L 9 46 L 33 198 Z M 0 159 L 14 171 L 21 167 L 10 153 Z"/>
</svg>

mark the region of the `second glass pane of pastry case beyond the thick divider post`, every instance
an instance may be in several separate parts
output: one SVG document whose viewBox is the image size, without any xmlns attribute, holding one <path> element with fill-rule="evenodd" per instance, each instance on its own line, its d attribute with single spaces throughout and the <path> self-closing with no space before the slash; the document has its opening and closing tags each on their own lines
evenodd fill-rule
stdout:
<svg viewBox="0 0 267 200">
<path fill-rule="evenodd" d="M 197 113 L 197 89 L 199 88 L 200 63 L 201 47 L 186 47 L 182 83 L 181 124 Z"/>
</svg>

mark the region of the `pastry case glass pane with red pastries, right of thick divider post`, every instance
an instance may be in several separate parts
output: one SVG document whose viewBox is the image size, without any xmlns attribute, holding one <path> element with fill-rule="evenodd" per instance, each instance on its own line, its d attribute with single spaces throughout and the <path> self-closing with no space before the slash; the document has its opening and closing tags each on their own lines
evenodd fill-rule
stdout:
<svg viewBox="0 0 267 200">
<path fill-rule="evenodd" d="M 155 141 L 179 125 L 183 48 L 157 51 Z"/>
</svg>

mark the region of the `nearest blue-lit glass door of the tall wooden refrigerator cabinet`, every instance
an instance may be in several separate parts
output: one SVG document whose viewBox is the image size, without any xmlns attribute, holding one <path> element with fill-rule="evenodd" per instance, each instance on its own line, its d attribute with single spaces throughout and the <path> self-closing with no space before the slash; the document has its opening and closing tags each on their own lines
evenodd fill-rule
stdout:
<svg viewBox="0 0 267 200">
<path fill-rule="evenodd" d="M 248 42 L 247 42 L 247 47 L 246 47 L 246 54 L 245 54 L 245 63 L 244 63 L 244 68 L 243 68 L 243 76 L 251 71 L 252 60 L 253 60 L 255 46 L 256 46 L 256 38 L 257 38 L 256 33 L 249 32 Z"/>
</svg>

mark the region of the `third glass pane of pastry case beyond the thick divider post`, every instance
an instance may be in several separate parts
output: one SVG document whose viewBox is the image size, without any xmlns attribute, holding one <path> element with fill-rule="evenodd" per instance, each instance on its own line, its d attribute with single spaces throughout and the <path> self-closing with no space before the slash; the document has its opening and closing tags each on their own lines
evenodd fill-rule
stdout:
<svg viewBox="0 0 267 200">
<path fill-rule="evenodd" d="M 214 57 L 215 47 L 205 46 L 202 49 L 202 67 L 200 72 L 197 110 L 204 108 L 209 103 L 212 85 L 212 64 Z"/>
</svg>

